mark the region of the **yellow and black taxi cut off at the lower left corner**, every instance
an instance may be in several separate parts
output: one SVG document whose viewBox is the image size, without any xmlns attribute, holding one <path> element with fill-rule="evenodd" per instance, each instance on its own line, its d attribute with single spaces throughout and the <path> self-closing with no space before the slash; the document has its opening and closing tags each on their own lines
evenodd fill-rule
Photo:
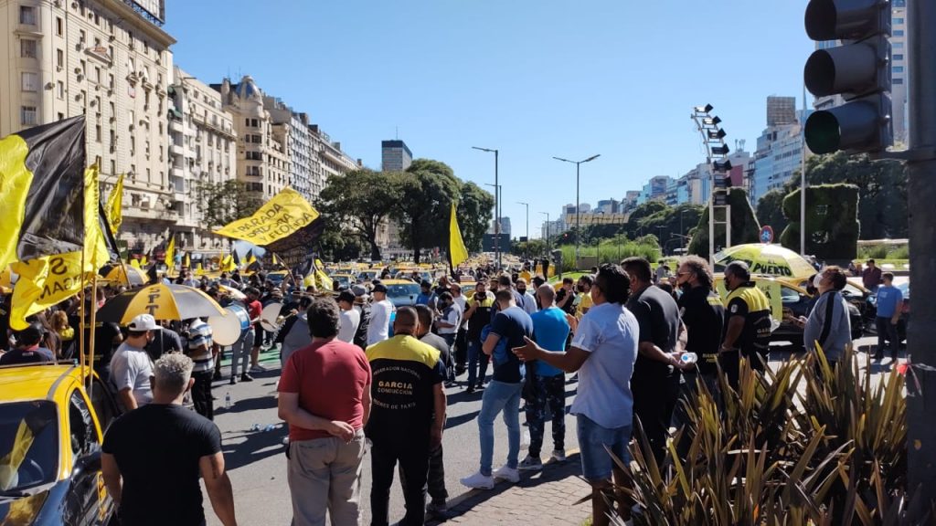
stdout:
<svg viewBox="0 0 936 526">
<path fill-rule="evenodd" d="M 101 474 L 103 430 L 118 415 L 76 365 L 0 367 L 0 524 L 106 525 L 116 508 Z"/>
</svg>

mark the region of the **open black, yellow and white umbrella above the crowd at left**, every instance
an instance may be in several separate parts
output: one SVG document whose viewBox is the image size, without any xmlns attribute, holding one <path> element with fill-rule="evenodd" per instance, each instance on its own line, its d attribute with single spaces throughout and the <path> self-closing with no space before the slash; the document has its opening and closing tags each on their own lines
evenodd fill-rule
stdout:
<svg viewBox="0 0 936 526">
<path fill-rule="evenodd" d="M 198 316 L 220 316 L 225 311 L 197 288 L 159 284 L 128 290 L 115 296 L 97 312 L 97 319 L 126 325 L 137 314 L 152 314 L 159 320 L 184 320 Z"/>
</svg>

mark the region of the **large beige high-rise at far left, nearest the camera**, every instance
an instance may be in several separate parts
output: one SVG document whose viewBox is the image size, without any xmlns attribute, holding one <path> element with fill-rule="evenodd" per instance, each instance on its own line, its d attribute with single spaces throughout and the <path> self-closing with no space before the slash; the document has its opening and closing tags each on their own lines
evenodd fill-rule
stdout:
<svg viewBox="0 0 936 526">
<path fill-rule="evenodd" d="M 0 2 L 0 136 L 85 115 L 101 189 L 124 178 L 121 244 L 165 239 L 176 220 L 168 181 L 172 69 L 163 0 Z"/>
</svg>

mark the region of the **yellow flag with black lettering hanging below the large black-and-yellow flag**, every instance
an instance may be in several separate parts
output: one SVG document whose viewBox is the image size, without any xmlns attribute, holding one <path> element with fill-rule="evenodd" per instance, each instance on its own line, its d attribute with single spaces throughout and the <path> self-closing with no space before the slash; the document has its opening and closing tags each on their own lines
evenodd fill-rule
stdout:
<svg viewBox="0 0 936 526">
<path fill-rule="evenodd" d="M 75 296 L 97 269 L 107 264 L 110 254 L 97 220 L 97 167 L 84 171 L 84 254 L 69 252 L 55 256 L 18 261 L 10 268 L 20 274 L 13 288 L 10 327 L 25 329 L 26 318 Z M 81 261 L 84 260 L 84 269 Z"/>
</svg>

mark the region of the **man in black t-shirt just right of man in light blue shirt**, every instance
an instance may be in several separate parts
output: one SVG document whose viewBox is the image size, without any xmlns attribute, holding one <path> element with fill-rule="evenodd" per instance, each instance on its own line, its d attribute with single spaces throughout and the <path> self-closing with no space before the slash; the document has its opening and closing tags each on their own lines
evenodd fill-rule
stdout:
<svg viewBox="0 0 936 526">
<path fill-rule="evenodd" d="M 638 354 L 631 378 L 634 416 L 643 426 L 657 464 L 666 456 L 666 435 L 680 396 L 680 309 L 673 297 L 653 285 L 650 261 L 628 257 L 622 267 L 630 278 L 627 309 L 640 327 Z M 643 447 L 642 444 L 637 446 Z"/>
</svg>

